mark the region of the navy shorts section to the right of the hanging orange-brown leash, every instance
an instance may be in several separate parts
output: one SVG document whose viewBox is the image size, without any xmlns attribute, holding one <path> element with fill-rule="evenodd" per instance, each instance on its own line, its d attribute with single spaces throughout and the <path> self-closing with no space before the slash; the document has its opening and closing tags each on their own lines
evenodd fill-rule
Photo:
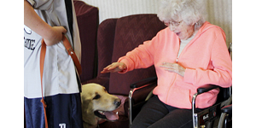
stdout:
<svg viewBox="0 0 256 128">
<path fill-rule="evenodd" d="M 80 94 L 47 96 L 48 124 L 54 128 L 83 128 Z"/>
</svg>

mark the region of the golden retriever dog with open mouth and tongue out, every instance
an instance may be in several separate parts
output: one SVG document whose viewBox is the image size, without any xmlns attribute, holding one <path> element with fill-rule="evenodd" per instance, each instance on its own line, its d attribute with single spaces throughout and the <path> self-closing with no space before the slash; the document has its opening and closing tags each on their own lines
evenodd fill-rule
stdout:
<svg viewBox="0 0 256 128">
<path fill-rule="evenodd" d="M 95 128 L 100 119 L 114 121 L 119 119 L 118 113 L 112 111 L 119 108 L 121 100 L 108 94 L 100 84 L 84 84 L 81 92 L 84 128 Z"/>
</svg>

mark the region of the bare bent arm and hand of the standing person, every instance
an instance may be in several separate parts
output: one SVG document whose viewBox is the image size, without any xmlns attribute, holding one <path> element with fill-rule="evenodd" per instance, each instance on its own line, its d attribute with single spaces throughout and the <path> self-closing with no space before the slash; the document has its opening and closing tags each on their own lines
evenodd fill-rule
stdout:
<svg viewBox="0 0 256 128">
<path fill-rule="evenodd" d="M 49 26 L 26 0 L 24 0 L 24 24 L 42 36 L 46 45 L 59 43 L 63 33 L 67 32 L 63 26 Z"/>
</svg>

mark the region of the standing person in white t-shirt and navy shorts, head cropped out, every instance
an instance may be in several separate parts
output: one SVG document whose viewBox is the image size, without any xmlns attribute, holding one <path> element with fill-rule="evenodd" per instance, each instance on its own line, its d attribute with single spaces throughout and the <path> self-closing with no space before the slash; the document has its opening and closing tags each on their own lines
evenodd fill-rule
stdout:
<svg viewBox="0 0 256 128">
<path fill-rule="evenodd" d="M 24 1 L 24 103 L 26 127 L 43 128 L 40 50 L 44 38 L 43 94 L 49 127 L 82 128 L 80 81 L 62 36 L 80 59 L 79 29 L 72 0 Z"/>
</svg>

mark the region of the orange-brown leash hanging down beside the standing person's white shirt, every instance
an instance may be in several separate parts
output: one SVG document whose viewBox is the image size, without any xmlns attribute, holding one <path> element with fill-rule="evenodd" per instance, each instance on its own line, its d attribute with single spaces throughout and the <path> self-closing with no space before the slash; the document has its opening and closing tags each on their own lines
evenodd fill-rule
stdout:
<svg viewBox="0 0 256 128">
<path fill-rule="evenodd" d="M 72 49 L 72 46 L 69 44 L 67 38 L 63 35 L 62 38 L 63 44 L 65 48 L 67 49 L 68 55 L 71 56 L 73 59 L 73 62 L 77 68 L 77 71 L 79 75 L 82 73 L 82 67 L 79 63 L 79 59 L 75 52 Z M 44 120 L 45 120 L 45 128 L 48 128 L 48 121 L 47 121 L 47 116 L 46 116 L 46 103 L 44 102 L 44 93 L 43 93 L 43 73 L 44 73 L 44 59 L 45 59 L 45 53 L 46 53 L 46 44 L 44 43 L 44 38 L 42 38 L 42 46 L 41 46 L 41 53 L 40 53 L 40 78 L 41 78 L 41 92 L 42 92 L 42 100 L 41 102 L 43 103 L 44 106 Z"/>
</svg>

